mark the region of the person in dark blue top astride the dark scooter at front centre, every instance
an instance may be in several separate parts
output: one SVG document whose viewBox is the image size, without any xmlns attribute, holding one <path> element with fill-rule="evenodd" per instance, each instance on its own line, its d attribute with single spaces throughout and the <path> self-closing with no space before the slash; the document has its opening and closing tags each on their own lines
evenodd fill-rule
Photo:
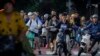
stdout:
<svg viewBox="0 0 100 56">
<path fill-rule="evenodd" d="M 67 43 L 66 43 L 66 35 L 69 33 L 68 31 L 68 22 L 66 21 L 66 14 L 62 13 L 62 20 L 60 21 L 60 23 L 58 24 L 58 27 L 60 30 L 57 33 L 57 37 L 56 37 L 56 44 L 55 44 L 55 50 L 54 50 L 54 55 L 57 54 L 57 43 L 58 42 L 62 42 L 64 45 L 64 52 L 65 55 L 67 55 Z M 69 53 L 69 52 L 68 52 Z"/>
</svg>

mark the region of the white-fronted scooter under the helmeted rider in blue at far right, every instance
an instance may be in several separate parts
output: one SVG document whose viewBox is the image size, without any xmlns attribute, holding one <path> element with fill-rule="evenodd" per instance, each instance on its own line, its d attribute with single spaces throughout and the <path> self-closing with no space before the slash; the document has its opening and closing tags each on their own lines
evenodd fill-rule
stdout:
<svg viewBox="0 0 100 56">
<path fill-rule="evenodd" d="M 87 31 L 82 35 L 78 56 L 80 56 L 82 52 L 87 52 L 87 49 L 90 46 L 90 37 L 91 35 Z"/>
</svg>

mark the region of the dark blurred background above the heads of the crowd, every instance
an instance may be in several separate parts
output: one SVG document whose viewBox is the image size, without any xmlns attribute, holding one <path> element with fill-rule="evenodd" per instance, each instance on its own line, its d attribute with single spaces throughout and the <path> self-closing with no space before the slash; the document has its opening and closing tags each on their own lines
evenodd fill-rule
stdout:
<svg viewBox="0 0 100 56">
<path fill-rule="evenodd" d="M 0 9 L 3 8 L 4 1 L 0 0 Z M 16 10 L 25 10 L 28 11 L 39 11 L 41 14 L 50 13 L 52 9 L 55 9 L 57 12 L 68 11 L 66 7 L 66 2 L 68 0 L 11 0 L 15 4 Z M 99 0 L 71 0 L 73 2 L 73 8 L 77 10 L 81 15 L 90 15 L 93 14 L 95 8 L 91 4 L 99 4 Z M 91 6 L 91 8 L 90 8 Z M 100 6 L 99 8 L 100 9 Z M 74 10 L 74 9 L 73 9 Z M 99 13 L 100 14 L 100 13 Z"/>
</svg>

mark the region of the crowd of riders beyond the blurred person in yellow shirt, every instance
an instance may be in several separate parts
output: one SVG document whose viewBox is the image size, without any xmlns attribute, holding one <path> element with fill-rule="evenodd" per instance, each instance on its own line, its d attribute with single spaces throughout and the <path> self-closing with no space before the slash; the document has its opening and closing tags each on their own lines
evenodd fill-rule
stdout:
<svg viewBox="0 0 100 56">
<path fill-rule="evenodd" d="M 21 13 L 26 26 L 29 27 L 28 30 L 35 34 L 33 45 L 34 48 L 39 47 L 39 54 L 42 51 L 40 47 L 45 47 L 49 48 L 53 55 L 57 55 L 57 44 L 62 42 L 65 55 L 71 55 L 73 48 L 76 46 L 79 48 L 81 44 L 84 44 L 81 42 L 82 35 L 87 31 L 90 35 L 90 47 L 88 47 L 87 52 L 95 55 L 91 49 L 100 41 L 98 14 L 87 18 L 84 15 L 81 16 L 77 11 L 57 13 L 52 10 L 51 14 L 45 13 L 44 15 L 39 15 L 39 12 L 26 14 L 21 11 Z M 70 50 L 68 50 L 68 44 L 71 44 Z"/>
</svg>

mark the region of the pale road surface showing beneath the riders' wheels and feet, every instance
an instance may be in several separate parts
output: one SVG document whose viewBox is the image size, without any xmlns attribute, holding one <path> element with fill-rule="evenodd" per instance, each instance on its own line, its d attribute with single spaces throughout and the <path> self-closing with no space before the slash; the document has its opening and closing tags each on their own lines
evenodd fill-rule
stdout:
<svg viewBox="0 0 100 56">
<path fill-rule="evenodd" d="M 95 47 L 93 48 L 93 50 L 96 49 L 96 47 L 97 47 L 97 45 L 95 45 Z M 100 45 L 99 45 L 99 47 L 100 47 Z M 37 56 L 57 56 L 57 55 L 52 55 L 52 52 L 50 50 L 48 50 L 48 49 L 41 48 L 41 50 L 42 50 L 42 55 L 38 55 L 38 50 L 35 50 L 35 54 Z M 71 53 L 72 53 L 72 56 L 77 56 L 77 54 L 78 54 L 78 48 L 74 48 L 71 51 Z M 91 55 L 88 54 L 88 53 L 82 53 L 81 56 L 91 56 Z M 100 51 L 98 52 L 98 54 L 96 56 L 100 56 Z"/>
</svg>

